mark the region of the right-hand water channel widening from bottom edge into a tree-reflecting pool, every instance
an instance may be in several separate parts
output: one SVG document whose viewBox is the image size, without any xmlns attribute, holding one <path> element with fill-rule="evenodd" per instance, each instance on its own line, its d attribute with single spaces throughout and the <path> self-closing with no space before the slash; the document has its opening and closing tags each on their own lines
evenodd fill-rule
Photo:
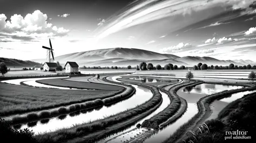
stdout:
<svg viewBox="0 0 256 143">
<path fill-rule="evenodd" d="M 181 125 L 190 120 L 196 113 L 197 101 L 200 98 L 214 94 L 223 90 L 231 90 L 241 88 L 239 86 L 221 85 L 221 84 L 199 84 L 196 87 L 187 88 L 183 87 L 177 91 L 177 95 L 187 101 L 187 111 L 173 124 L 161 128 L 156 134 L 146 139 L 144 142 L 163 142 L 166 138 L 170 137 Z"/>
</svg>

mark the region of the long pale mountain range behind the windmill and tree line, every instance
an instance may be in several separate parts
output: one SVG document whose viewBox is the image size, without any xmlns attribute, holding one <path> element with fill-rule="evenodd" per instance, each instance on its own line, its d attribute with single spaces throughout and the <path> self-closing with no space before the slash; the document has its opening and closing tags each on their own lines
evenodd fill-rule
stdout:
<svg viewBox="0 0 256 143">
<path fill-rule="evenodd" d="M 35 62 L 44 62 L 45 59 L 31 60 Z M 110 48 L 97 49 L 93 51 L 71 53 L 57 56 L 55 61 L 65 63 L 66 61 L 75 61 L 79 66 L 137 66 L 140 62 L 151 62 L 153 65 L 164 66 L 167 63 L 172 63 L 177 66 L 194 66 L 199 62 L 211 65 L 228 66 L 230 63 L 234 65 L 256 65 L 256 62 L 251 60 L 218 60 L 208 56 L 184 56 L 179 57 L 173 54 L 160 54 L 152 51 L 146 51 L 136 48 Z"/>
</svg>

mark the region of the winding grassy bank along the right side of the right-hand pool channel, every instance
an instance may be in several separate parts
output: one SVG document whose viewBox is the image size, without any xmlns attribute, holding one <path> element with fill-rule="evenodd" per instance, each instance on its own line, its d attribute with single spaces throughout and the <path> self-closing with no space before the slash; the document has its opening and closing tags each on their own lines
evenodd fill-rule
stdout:
<svg viewBox="0 0 256 143">
<path fill-rule="evenodd" d="M 212 83 L 213 84 L 213 83 Z M 232 84 L 235 85 L 235 84 Z M 247 86 L 247 85 L 245 85 Z M 181 140 L 183 138 L 186 138 L 188 136 L 189 130 L 194 130 L 194 128 L 204 121 L 205 117 L 210 114 L 210 104 L 219 98 L 225 98 L 227 96 L 230 96 L 231 94 L 247 91 L 247 90 L 254 90 L 255 86 L 252 85 L 250 88 L 240 88 L 240 89 L 233 89 L 233 90 L 225 90 L 218 92 L 216 94 L 207 95 L 203 98 L 200 98 L 197 102 L 198 110 L 199 112 L 193 116 L 190 120 L 187 121 L 187 123 L 180 126 L 180 128 L 174 132 L 168 139 L 166 139 L 164 142 L 176 142 L 178 140 Z"/>
</svg>

